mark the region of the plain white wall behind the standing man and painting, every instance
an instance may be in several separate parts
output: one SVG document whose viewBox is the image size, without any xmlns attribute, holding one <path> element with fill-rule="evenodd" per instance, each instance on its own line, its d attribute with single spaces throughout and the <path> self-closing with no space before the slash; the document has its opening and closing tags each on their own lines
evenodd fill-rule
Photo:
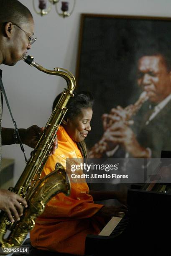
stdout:
<svg viewBox="0 0 171 256">
<path fill-rule="evenodd" d="M 77 0 L 74 13 L 65 19 L 57 16 L 54 8 L 47 16 L 41 17 L 34 13 L 32 0 L 20 2 L 32 12 L 35 36 L 38 38 L 29 54 L 43 67 L 63 67 L 74 74 L 81 13 L 171 17 L 171 0 Z M 43 74 L 23 61 L 14 67 L 1 65 L 1 69 L 18 127 L 27 128 L 33 124 L 44 126 L 51 114 L 54 98 L 65 86 L 64 79 Z M 3 127 L 13 128 L 5 102 Z M 29 158 L 31 149 L 27 146 L 25 149 Z M 3 157 L 15 159 L 16 182 L 26 165 L 20 146 L 3 146 Z"/>
</svg>

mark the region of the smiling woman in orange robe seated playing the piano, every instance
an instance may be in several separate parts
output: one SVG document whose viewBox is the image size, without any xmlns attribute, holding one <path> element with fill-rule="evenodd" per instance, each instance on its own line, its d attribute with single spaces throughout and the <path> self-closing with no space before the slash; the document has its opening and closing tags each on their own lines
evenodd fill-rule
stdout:
<svg viewBox="0 0 171 256">
<path fill-rule="evenodd" d="M 58 148 L 54 155 L 49 156 L 42 175 L 54 171 L 57 162 L 66 167 L 66 159 L 74 161 L 87 157 L 84 138 L 91 130 L 93 99 L 88 92 L 74 92 L 74 95 L 69 100 L 68 111 L 57 132 Z M 53 108 L 59 97 L 56 97 Z M 46 251 L 84 255 L 87 234 L 100 233 L 106 219 L 116 212 L 126 211 L 125 205 L 107 207 L 94 203 L 94 200 L 105 199 L 117 199 L 122 203 L 126 201 L 119 192 L 89 191 L 86 182 L 71 183 L 70 196 L 59 193 L 53 197 L 43 214 L 37 218 L 35 228 L 31 231 L 32 246 Z"/>
</svg>

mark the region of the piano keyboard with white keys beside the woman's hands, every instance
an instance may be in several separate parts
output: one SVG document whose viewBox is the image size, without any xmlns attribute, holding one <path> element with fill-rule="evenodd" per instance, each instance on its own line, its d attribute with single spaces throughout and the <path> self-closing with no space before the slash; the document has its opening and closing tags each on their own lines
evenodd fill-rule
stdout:
<svg viewBox="0 0 171 256">
<path fill-rule="evenodd" d="M 99 233 L 99 236 L 115 236 L 123 232 L 129 222 L 128 216 L 125 213 L 121 217 L 112 217 L 112 219 L 105 225 L 105 228 Z"/>
</svg>

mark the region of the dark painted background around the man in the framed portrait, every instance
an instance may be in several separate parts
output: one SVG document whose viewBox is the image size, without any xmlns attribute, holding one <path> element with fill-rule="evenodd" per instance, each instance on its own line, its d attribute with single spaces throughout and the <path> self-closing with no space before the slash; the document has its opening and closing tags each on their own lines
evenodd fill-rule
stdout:
<svg viewBox="0 0 171 256">
<path fill-rule="evenodd" d="M 138 86 L 138 61 L 147 51 L 165 51 L 171 59 L 171 18 L 82 14 L 77 89 L 95 99 L 88 148 L 102 137 L 102 114 L 138 100 L 144 90 Z"/>
</svg>

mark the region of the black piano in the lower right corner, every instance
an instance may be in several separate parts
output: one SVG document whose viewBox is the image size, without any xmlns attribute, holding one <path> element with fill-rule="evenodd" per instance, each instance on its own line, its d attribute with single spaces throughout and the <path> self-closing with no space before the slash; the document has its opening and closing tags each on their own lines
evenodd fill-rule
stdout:
<svg viewBox="0 0 171 256">
<path fill-rule="evenodd" d="M 168 158 L 168 151 L 162 158 Z M 112 218 L 98 236 L 87 236 L 85 256 L 171 255 L 171 184 L 133 185 L 128 212 Z"/>
</svg>

